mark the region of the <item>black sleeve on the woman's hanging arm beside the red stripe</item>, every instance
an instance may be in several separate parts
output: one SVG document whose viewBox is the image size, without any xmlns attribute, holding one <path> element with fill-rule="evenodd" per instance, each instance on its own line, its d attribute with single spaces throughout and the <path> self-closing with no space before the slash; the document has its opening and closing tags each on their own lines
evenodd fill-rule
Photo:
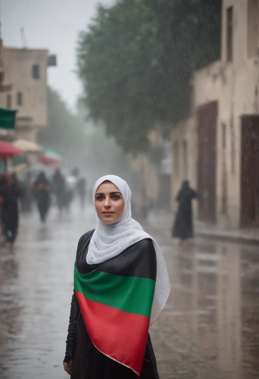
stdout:
<svg viewBox="0 0 259 379">
<path fill-rule="evenodd" d="M 66 363 L 69 363 L 70 360 L 73 360 L 73 357 L 75 355 L 76 334 L 77 334 L 77 324 L 78 324 L 79 315 L 80 315 L 80 307 L 79 307 L 78 299 L 76 297 L 76 293 L 74 290 L 74 293 L 72 295 L 72 301 L 71 301 L 69 327 L 68 327 L 68 334 L 67 334 L 67 340 L 66 340 L 66 344 L 67 344 L 66 355 L 63 361 Z"/>
</svg>

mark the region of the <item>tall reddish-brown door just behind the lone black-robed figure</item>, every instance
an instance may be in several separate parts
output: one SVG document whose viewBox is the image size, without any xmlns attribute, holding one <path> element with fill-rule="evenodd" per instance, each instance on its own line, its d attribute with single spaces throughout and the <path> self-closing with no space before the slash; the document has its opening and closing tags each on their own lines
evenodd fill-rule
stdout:
<svg viewBox="0 0 259 379">
<path fill-rule="evenodd" d="M 216 221 L 217 117 L 217 101 L 198 109 L 198 190 L 203 195 L 199 201 L 199 219 L 211 223 Z"/>
</svg>

